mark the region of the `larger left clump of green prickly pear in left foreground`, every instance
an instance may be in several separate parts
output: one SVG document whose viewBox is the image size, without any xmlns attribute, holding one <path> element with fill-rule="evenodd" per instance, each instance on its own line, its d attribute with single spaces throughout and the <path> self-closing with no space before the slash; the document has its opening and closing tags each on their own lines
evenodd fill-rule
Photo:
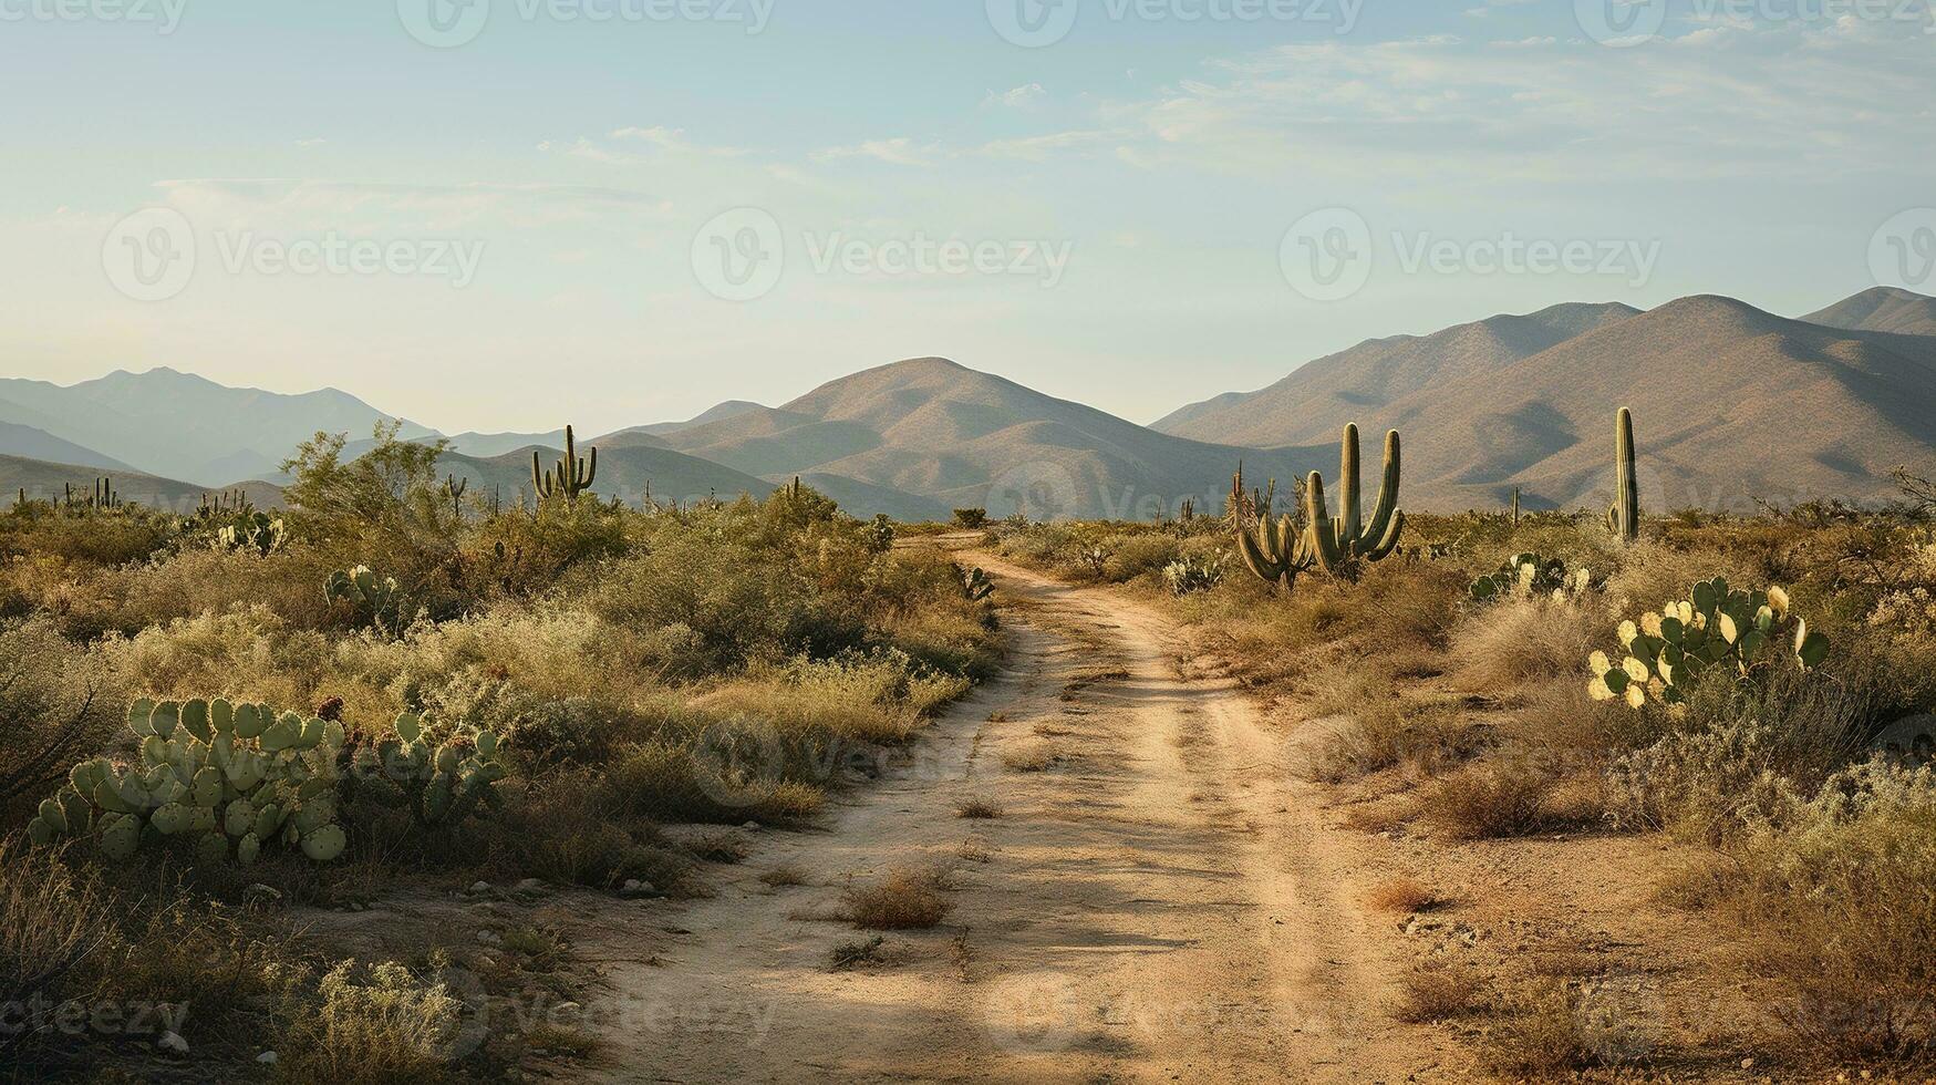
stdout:
<svg viewBox="0 0 1936 1085">
<path fill-rule="evenodd" d="M 318 862 L 343 854 L 341 723 L 227 699 L 143 698 L 128 707 L 128 730 L 139 740 L 137 761 L 76 765 L 29 822 L 33 843 L 91 839 L 114 862 L 172 837 L 201 864 L 248 866 L 273 841 L 300 845 Z"/>
</svg>

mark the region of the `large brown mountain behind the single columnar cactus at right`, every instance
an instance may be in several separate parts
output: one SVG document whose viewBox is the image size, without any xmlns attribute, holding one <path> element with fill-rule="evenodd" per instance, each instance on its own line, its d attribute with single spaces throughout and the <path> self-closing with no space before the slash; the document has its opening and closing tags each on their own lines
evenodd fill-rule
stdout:
<svg viewBox="0 0 1936 1085">
<path fill-rule="evenodd" d="M 1890 465 L 1936 448 L 1936 339 L 1694 296 L 1359 415 L 1404 430 L 1413 504 L 1493 506 L 1522 484 L 1578 506 L 1611 492 L 1620 405 L 1649 508 L 1886 496 Z"/>
</svg>

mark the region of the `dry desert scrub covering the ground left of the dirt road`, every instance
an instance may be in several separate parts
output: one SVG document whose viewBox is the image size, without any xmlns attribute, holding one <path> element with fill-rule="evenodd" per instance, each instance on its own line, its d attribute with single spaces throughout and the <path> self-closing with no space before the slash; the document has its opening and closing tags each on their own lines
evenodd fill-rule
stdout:
<svg viewBox="0 0 1936 1085">
<path fill-rule="evenodd" d="M 585 457 L 515 504 L 393 430 L 345 448 L 306 444 L 273 513 L 0 512 L 0 1002 L 186 1006 L 172 1058 L 217 1077 L 488 1075 L 501 1044 L 451 1044 L 455 959 L 290 909 L 678 895 L 720 856 L 660 825 L 809 822 L 997 659 L 964 570 L 798 482 L 627 508 Z M 159 1038 L 0 1050 L 85 1079 Z"/>
</svg>

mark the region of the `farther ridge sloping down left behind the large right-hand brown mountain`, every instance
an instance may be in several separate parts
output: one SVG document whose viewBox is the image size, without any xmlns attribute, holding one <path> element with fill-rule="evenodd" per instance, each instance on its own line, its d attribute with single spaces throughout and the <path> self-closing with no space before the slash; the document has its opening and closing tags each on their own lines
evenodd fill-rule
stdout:
<svg viewBox="0 0 1936 1085">
<path fill-rule="evenodd" d="M 1495 374 L 1557 343 L 1632 318 L 1624 304 L 1557 304 L 1528 316 L 1493 316 L 1431 335 L 1371 339 L 1307 362 L 1251 393 L 1224 393 L 1175 411 L 1152 428 L 1251 446 L 1334 438 L 1367 409 L 1458 380 Z"/>
</svg>

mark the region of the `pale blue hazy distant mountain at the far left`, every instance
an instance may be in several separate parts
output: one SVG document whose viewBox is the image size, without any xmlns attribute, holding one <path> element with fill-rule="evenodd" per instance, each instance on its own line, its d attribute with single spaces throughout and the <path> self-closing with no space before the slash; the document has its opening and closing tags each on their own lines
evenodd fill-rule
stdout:
<svg viewBox="0 0 1936 1085">
<path fill-rule="evenodd" d="M 318 430 L 360 438 L 385 418 L 335 389 L 279 395 L 170 368 L 112 372 L 72 388 L 0 380 L 0 401 L 27 415 L 6 415 L 0 407 L 0 420 L 46 430 L 159 477 L 213 484 L 273 473 Z M 428 434 L 424 426 L 403 426 L 405 438 Z"/>
</svg>

